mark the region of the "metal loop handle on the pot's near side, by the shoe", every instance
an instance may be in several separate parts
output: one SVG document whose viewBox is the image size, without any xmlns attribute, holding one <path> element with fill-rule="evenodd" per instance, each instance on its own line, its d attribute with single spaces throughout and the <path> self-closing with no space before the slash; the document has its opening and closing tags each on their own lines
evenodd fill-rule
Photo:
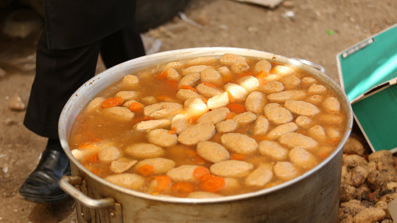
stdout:
<svg viewBox="0 0 397 223">
<path fill-rule="evenodd" d="M 63 176 L 59 181 L 59 186 L 61 187 L 61 189 L 63 189 L 71 197 L 73 197 L 74 199 L 76 199 L 78 202 L 80 202 L 82 205 L 86 207 L 99 209 L 99 208 L 111 208 L 116 205 L 115 199 L 112 198 L 92 199 L 86 196 L 86 194 L 82 193 L 73 186 L 76 184 L 81 184 L 81 177 Z"/>
</svg>

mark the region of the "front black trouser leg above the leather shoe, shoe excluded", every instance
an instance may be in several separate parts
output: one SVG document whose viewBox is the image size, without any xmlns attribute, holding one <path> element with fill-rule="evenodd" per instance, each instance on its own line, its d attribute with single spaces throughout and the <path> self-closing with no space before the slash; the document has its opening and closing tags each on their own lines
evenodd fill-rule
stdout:
<svg viewBox="0 0 397 223">
<path fill-rule="evenodd" d="M 23 124 L 38 135 L 58 138 L 58 120 L 70 96 L 95 75 L 99 41 L 66 50 L 49 50 L 44 33 L 36 55 L 36 76 Z"/>
</svg>

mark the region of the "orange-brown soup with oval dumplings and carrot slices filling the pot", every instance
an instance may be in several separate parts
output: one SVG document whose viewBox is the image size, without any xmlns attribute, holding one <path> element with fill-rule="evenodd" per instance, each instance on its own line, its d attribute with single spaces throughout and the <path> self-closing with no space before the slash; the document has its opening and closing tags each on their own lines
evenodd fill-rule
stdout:
<svg viewBox="0 0 397 223">
<path fill-rule="evenodd" d="M 82 109 L 69 145 L 122 187 L 231 196 L 316 166 L 341 140 L 344 117 L 336 94 L 306 71 L 226 53 L 124 76 Z"/>
</svg>

